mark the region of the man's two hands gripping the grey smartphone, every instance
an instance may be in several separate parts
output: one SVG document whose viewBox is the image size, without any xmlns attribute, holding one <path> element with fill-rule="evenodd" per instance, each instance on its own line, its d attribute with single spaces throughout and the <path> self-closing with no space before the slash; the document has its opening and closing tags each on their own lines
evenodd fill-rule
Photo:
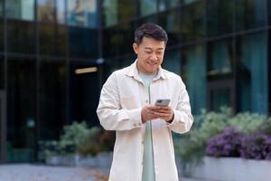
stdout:
<svg viewBox="0 0 271 181">
<path fill-rule="evenodd" d="M 153 106 L 146 105 L 141 110 L 142 123 L 151 119 L 164 119 L 167 122 L 172 122 L 174 118 L 174 112 L 171 107 L 168 106 Z"/>
</svg>

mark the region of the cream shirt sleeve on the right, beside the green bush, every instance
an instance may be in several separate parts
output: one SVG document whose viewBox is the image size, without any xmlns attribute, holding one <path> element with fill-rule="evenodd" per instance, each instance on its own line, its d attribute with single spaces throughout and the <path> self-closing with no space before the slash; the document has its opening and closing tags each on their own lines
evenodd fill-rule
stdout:
<svg viewBox="0 0 271 181">
<path fill-rule="evenodd" d="M 182 80 L 181 85 L 182 88 L 178 96 L 178 104 L 176 109 L 173 109 L 174 119 L 170 124 L 168 124 L 168 127 L 176 133 L 188 132 L 193 123 L 189 95 Z"/>
</svg>

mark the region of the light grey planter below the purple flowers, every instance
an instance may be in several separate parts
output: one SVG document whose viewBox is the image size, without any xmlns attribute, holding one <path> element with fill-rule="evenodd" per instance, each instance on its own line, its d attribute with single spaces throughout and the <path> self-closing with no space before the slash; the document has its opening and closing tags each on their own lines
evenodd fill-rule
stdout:
<svg viewBox="0 0 271 181">
<path fill-rule="evenodd" d="M 239 157 L 203 157 L 182 174 L 216 181 L 267 181 L 271 179 L 271 161 Z"/>
</svg>

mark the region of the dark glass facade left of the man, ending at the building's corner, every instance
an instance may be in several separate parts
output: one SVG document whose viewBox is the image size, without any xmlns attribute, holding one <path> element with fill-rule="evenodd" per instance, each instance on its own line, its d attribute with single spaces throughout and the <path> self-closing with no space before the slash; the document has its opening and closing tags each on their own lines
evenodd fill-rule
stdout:
<svg viewBox="0 0 271 181">
<path fill-rule="evenodd" d="M 100 72 L 75 73 L 97 66 L 98 1 L 1 0 L 0 7 L 0 110 L 7 111 L 0 162 L 36 162 L 39 143 L 58 139 L 64 125 L 98 124 Z"/>
</svg>

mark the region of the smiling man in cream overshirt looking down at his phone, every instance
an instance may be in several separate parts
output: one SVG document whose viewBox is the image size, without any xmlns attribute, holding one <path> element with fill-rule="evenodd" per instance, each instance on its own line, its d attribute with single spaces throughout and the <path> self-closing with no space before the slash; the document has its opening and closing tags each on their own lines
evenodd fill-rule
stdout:
<svg viewBox="0 0 271 181">
<path fill-rule="evenodd" d="M 135 30 L 137 59 L 113 72 L 104 84 L 98 119 L 116 130 L 110 181 L 176 181 L 172 132 L 192 127 L 189 96 L 180 76 L 161 68 L 167 34 L 157 24 Z M 169 106 L 155 106 L 170 99 Z"/>
</svg>

